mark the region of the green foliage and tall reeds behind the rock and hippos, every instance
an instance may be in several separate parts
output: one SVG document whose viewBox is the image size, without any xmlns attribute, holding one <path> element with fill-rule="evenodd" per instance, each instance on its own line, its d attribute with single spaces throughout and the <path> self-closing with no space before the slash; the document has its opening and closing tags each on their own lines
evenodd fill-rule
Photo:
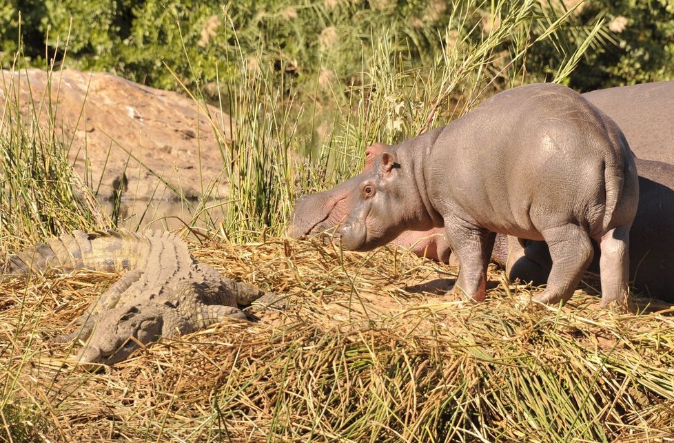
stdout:
<svg viewBox="0 0 674 443">
<path fill-rule="evenodd" d="M 356 174 L 365 146 L 445 124 L 499 90 L 671 78 L 673 5 L 9 0 L 0 63 L 105 70 L 218 105 L 237 134 L 221 146 L 227 231 L 280 232 L 294 198 Z"/>
</svg>

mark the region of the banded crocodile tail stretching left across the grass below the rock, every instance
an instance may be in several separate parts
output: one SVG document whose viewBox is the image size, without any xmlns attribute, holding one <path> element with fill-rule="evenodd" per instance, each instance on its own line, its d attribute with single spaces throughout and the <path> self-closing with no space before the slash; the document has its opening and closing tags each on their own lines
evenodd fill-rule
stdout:
<svg viewBox="0 0 674 443">
<path fill-rule="evenodd" d="M 3 271 L 6 274 L 28 274 L 52 269 L 110 272 L 134 269 L 150 256 L 154 238 L 177 240 L 172 234 L 162 231 L 145 234 L 125 229 L 91 234 L 73 231 L 17 252 L 10 256 Z"/>
</svg>

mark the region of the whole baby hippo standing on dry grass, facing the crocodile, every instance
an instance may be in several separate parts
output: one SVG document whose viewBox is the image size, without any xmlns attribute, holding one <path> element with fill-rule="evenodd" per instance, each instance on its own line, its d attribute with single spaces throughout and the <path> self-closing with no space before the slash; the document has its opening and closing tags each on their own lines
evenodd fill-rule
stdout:
<svg viewBox="0 0 674 443">
<path fill-rule="evenodd" d="M 374 167 L 340 186 L 345 249 L 445 227 L 460 263 L 455 291 L 484 300 L 496 233 L 544 240 L 552 260 L 536 300 L 568 300 L 600 248 L 602 306 L 628 300 L 629 230 L 638 198 L 620 128 L 567 87 L 516 87 L 446 127 L 382 147 Z M 322 220 L 316 220 L 320 223 Z"/>
</svg>

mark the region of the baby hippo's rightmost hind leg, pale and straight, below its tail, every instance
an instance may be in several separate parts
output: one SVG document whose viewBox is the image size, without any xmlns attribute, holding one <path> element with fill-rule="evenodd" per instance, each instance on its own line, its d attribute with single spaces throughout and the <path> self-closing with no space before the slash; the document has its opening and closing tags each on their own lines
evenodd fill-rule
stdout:
<svg viewBox="0 0 674 443">
<path fill-rule="evenodd" d="M 629 231 L 629 225 L 615 227 L 597 239 L 602 251 L 602 307 L 629 308 Z"/>
</svg>

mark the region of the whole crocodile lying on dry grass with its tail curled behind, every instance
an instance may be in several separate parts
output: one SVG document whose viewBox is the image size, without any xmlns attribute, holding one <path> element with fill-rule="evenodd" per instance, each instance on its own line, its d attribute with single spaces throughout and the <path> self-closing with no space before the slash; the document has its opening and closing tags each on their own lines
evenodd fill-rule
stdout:
<svg viewBox="0 0 674 443">
<path fill-rule="evenodd" d="M 245 320 L 239 306 L 273 298 L 223 277 L 198 262 L 187 243 L 168 231 L 73 231 L 10 256 L 5 274 L 52 270 L 127 271 L 82 316 L 78 328 L 54 338 L 87 340 L 76 360 L 89 369 L 114 364 L 161 337 L 203 329 L 221 320 Z"/>
</svg>

